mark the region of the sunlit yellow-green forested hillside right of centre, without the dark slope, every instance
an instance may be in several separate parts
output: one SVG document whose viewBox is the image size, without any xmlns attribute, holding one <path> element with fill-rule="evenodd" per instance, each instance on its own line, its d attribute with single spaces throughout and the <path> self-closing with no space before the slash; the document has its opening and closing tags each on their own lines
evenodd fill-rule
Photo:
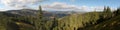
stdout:
<svg viewBox="0 0 120 30">
<path fill-rule="evenodd" d="M 79 27 L 87 26 L 86 23 L 92 21 L 93 24 L 99 19 L 98 12 L 89 12 L 85 14 L 71 14 L 60 18 L 58 24 L 54 29 L 55 30 L 77 30 Z"/>
</svg>

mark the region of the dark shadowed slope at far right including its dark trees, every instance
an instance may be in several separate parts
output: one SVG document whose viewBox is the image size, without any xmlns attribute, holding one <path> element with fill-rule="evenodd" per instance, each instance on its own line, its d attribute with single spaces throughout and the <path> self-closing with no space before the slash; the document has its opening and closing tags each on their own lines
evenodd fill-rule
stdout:
<svg viewBox="0 0 120 30">
<path fill-rule="evenodd" d="M 101 18 L 102 21 L 96 25 L 91 25 L 78 30 L 120 30 L 120 8 L 114 11 L 114 16 L 111 18 Z"/>
</svg>

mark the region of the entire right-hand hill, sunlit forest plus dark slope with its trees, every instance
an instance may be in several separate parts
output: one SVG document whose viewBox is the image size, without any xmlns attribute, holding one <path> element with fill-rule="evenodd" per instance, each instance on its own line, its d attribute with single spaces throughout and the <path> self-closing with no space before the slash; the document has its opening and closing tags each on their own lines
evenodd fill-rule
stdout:
<svg viewBox="0 0 120 30">
<path fill-rule="evenodd" d="M 56 30 L 117 30 L 120 26 L 120 9 L 111 12 L 107 7 L 103 12 L 72 14 L 58 19 Z"/>
</svg>

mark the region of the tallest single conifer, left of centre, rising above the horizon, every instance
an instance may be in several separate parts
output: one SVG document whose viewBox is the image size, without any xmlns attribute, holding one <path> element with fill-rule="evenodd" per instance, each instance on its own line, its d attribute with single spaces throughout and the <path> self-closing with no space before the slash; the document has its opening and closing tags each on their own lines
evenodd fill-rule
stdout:
<svg viewBox="0 0 120 30">
<path fill-rule="evenodd" d="M 34 21 L 35 29 L 36 30 L 42 30 L 42 8 L 39 6 L 38 10 L 38 15 L 37 15 L 37 20 Z"/>
</svg>

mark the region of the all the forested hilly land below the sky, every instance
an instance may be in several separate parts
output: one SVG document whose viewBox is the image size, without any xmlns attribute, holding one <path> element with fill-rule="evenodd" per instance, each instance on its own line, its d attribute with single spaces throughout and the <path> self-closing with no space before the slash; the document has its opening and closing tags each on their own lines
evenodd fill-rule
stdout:
<svg viewBox="0 0 120 30">
<path fill-rule="evenodd" d="M 101 12 L 71 14 L 47 15 L 41 6 L 34 16 L 13 12 L 0 12 L 0 30 L 120 30 L 120 8 L 111 11 L 109 6 Z"/>
</svg>

